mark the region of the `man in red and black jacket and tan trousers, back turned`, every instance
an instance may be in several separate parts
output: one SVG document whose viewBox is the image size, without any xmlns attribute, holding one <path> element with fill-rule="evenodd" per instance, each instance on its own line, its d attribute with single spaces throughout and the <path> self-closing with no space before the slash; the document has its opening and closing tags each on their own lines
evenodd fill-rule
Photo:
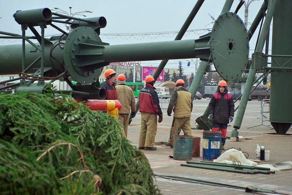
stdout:
<svg viewBox="0 0 292 195">
<path fill-rule="evenodd" d="M 140 150 L 157 150 L 154 146 L 158 122 L 162 121 L 162 111 L 158 95 L 155 91 L 154 78 L 148 75 L 145 78 L 146 86 L 139 93 L 139 111 L 141 113 L 141 130 L 139 137 Z"/>
</svg>

